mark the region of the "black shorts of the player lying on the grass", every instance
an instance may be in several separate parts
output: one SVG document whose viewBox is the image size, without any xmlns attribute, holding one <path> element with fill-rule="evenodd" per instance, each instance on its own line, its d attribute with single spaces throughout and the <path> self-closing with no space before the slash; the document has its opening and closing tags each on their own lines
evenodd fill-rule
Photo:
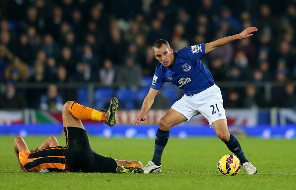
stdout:
<svg viewBox="0 0 296 190">
<path fill-rule="evenodd" d="M 86 130 L 78 127 L 64 127 L 67 149 L 65 158 L 74 172 L 116 172 L 117 163 L 95 153 L 89 144 Z"/>
</svg>

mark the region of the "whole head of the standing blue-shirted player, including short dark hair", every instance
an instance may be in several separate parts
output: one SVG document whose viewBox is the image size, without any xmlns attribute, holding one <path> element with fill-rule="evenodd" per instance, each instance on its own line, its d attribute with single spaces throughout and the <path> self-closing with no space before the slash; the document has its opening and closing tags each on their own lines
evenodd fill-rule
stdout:
<svg viewBox="0 0 296 190">
<path fill-rule="evenodd" d="M 163 66 L 170 66 L 173 62 L 173 50 L 166 40 L 157 40 L 152 45 L 156 60 Z"/>
</svg>

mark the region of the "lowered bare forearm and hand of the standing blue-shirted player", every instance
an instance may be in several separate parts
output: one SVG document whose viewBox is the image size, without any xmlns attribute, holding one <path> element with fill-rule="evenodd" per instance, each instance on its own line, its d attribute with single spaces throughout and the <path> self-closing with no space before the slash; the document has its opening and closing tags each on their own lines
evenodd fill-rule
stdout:
<svg viewBox="0 0 296 190">
<path fill-rule="evenodd" d="M 146 120 L 146 114 L 150 110 L 157 92 L 158 92 L 158 90 L 150 88 L 147 96 L 144 99 L 142 109 L 141 109 L 141 114 L 134 121 L 134 124 L 136 126 L 138 126 L 142 121 Z"/>
</svg>

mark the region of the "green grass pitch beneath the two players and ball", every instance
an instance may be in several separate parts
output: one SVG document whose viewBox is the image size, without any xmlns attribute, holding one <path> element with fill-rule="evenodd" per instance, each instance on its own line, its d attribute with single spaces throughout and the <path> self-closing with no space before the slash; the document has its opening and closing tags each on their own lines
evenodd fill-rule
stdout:
<svg viewBox="0 0 296 190">
<path fill-rule="evenodd" d="M 24 138 L 29 149 L 44 137 Z M 57 137 L 60 145 L 64 137 Z M 92 148 L 116 159 L 151 159 L 153 139 L 90 136 Z M 0 136 L 0 190 L 295 190 L 296 139 L 239 138 L 247 158 L 258 168 L 249 176 L 222 176 L 217 162 L 231 153 L 217 138 L 170 138 L 162 155 L 160 174 L 24 173 L 13 152 L 13 137 Z"/>
</svg>

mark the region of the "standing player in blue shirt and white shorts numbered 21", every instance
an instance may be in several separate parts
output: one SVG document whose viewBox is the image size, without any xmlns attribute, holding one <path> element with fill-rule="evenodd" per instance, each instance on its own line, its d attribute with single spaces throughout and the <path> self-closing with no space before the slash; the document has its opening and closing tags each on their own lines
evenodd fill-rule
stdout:
<svg viewBox="0 0 296 190">
<path fill-rule="evenodd" d="M 145 174 L 161 172 L 161 155 L 169 137 L 170 127 L 190 120 L 200 113 L 229 150 L 240 159 L 246 172 L 250 175 L 257 173 L 256 167 L 246 159 L 236 137 L 229 133 L 220 88 L 215 84 L 209 69 L 200 61 L 202 55 L 235 40 L 248 38 L 257 30 L 256 27 L 249 27 L 239 34 L 206 44 L 188 46 L 176 52 L 173 52 L 166 40 L 157 40 L 153 43 L 152 50 L 159 63 L 150 90 L 144 99 L 141 114 L 135 119 L 134 124 L 139 125 L 141 121 L 146 120 L 146 114 L 164 82 L 178 86 L 184 92 L 184 96 L 160 119 L 155 137 L 154 155 L 143 168 Z"/>
</svg>

